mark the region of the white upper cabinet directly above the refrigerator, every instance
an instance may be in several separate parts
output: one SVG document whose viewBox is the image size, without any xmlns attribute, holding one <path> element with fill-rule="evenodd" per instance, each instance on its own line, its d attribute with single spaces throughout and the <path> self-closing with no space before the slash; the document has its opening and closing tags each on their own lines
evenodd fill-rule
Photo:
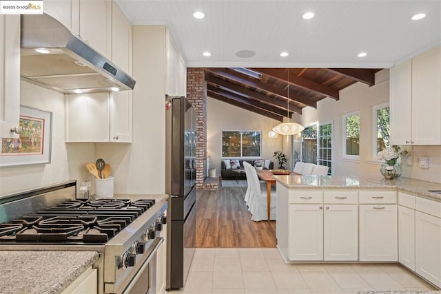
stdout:
<svg viewBox="0 0 441 294">
<path fill-rule="evenodd" d="M 166 31 L 165 38 L 165 94 L 170 96 L 185 96 L 187 90 L 187 67 L 183 56 L 176 47 L 170 31 Z"/>
</svg>

